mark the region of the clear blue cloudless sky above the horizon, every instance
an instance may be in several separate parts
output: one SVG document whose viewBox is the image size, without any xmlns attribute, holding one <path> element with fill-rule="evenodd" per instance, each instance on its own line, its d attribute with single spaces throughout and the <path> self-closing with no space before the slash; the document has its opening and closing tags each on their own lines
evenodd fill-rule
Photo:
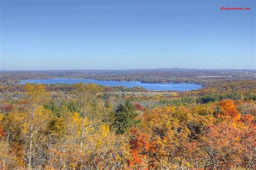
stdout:
<svg viewBox="0 0 256 170">
<path fill-rule="evenodd" d="M 254 0 L 0 1 L 1 70 L 255 69 Z"/>
</svg>

